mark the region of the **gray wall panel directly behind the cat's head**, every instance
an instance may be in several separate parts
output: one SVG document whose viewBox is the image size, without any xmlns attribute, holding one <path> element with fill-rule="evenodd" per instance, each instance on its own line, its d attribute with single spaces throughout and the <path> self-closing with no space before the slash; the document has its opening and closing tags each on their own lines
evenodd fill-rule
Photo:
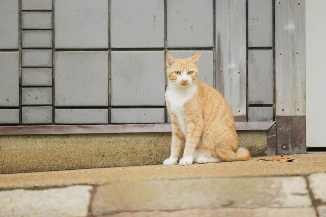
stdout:
<svg viewBox="0 0 326 217">
<path fill-rule="evenodd" d="M 212 50 L 175 50 L 168 51 L 175 58 L 188 58 L 200 52 L 200 59 L 198 62 L 198 79 L 201 82 L 214 86 L 214 72 L 213 72 L 213 51 Z"/>
</svg>

